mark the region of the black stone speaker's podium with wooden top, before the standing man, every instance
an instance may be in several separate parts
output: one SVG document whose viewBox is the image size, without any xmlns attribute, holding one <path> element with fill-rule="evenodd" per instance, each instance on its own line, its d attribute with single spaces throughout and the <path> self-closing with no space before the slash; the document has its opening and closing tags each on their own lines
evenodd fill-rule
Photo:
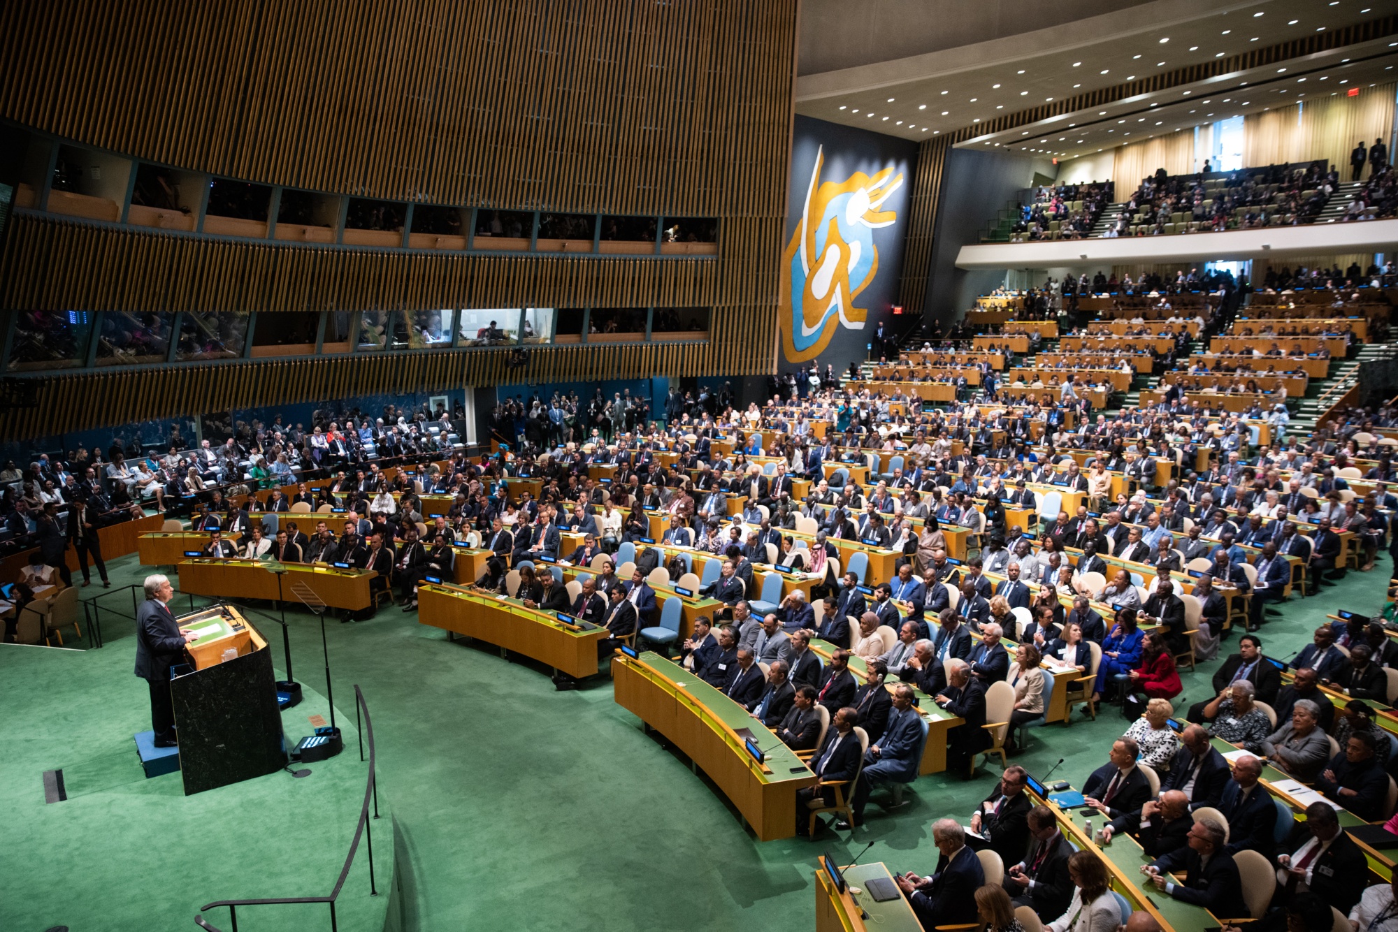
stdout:
<svg viewBox="0 0 1398 932">
<path fill-rule="evenodd" d="M 287 746 L 267 639 L 228 605 L 175 620 L 199 634 L 171 679 L 185 795 L 281 770 Z"/>
</svg>

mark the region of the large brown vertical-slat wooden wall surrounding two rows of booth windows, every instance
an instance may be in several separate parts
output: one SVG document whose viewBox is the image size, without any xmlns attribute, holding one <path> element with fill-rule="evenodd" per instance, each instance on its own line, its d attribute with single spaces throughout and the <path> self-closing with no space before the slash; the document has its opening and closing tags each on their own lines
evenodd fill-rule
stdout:
<svg viewBox="0 0 1398 932">
<path fill-rule="evenodd" d="M 717 260 L 477 256 L 179 236 L 20 211 L 7 310 L 712 307 L 707 345 L 55 373 L 13 439 L 502 381 L 770 366 L 790 0 L 161 0 L 0 7 L 0 119 L 179 169 L 428 204 L 717 217 Z M 161 24 L 152 29 L 151 24 Z M 102 405 L 92 401 L 101 398 Z"/>
</svg>

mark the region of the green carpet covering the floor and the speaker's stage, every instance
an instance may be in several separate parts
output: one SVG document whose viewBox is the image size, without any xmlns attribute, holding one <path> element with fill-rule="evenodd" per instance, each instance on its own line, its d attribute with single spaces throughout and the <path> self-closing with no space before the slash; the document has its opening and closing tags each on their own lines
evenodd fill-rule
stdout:
<svg viewBox="0 0 1398 932">
<path fill-rule="evenodd" d="M 113 584 L 136 581 L 147 571 L 136 566 L 134 558 L 115 563 Z M 1293 599 L 1262 629 L 1267 653 L 1286 657 L 1299 650 L 1328 611 L 1377 612 L 1384 602 L 1387 570 L 1388 562 L 1381 559 L 1373 573 L 1350 571 L 1318 597 Z M 183 611 L 183 599 L 173 606 Z M 288 618 L 296 676 L 308 689 L 323 692 L 320 629 L 309 615 Z M 264 620 L 259 626 L 273 636 L 280 660 L 277 626 Z M 327 634 L 337 706 L 352 708 L 348 697 L 359 683 L 375 714 L 380 787 L 393 799 L 410 861 L 407 928 L 566 926 L 621 932 L 742 925 L 808 932 L 814 926 L 812 869 L 822 850 L 853 857 L 874 841 L 864 861 L 927 873 L 937 857 L 928 831 L 932 819 L 953 816 L 965 822 L 998 777 L 998 771 L 993 776 L 987 769 L 973 781 L 945 774 L 923 777 L 907 794 L 911 803 L 896 813 L 885 812 L 881 803 L 886 796 L 875 794 L 867 824 L 853 840 L 849 833 L 828 831 L 815 843 L 758 843 L 724 796 L 691 773 L 688 760 L 667 750 L 657 736 L 643 734 L 639 720 L 615 704 L 605 678 L 579 692 L 558 693 L 545 669 L 505 661 L 488 646 L 450 643 L 443 632 L 418 625 L 415 615 L 397 608 L 386 608 L 369 622 L 331 622 Z M 101 676 L 45 675 L 25 665 L 7 671 L 0 687 L 7 710 L 13 713 L 15 703 L 32 710 L 7 715 L 7 724 L 0 727 L 0 734 L 10 738 L 6 746 L 18 749 L 0 764 L 0 799 L 17 813 L 11 837 L 20 841 L 4 845 L 0 869 L 7 878 L 24 878 L 22 896 L 7 896 L 0 903 L 0 928 L 42 929 L 69 921 L 71 912 L 66 910 L 74 908 L 101 915 L 101 897 L 122 898 L 126 914 L 134 914 L 133 904 L 141 900 L 158 898 L 148 915 L 178 924 L 193 917 L 193 907 L 207 898 L 252 891 L 288 894 L 296 884 L 275 879 L 278 865 L 268 862 L 263 843 L 239 837 L 243 833 L 236 813 L 207 812 L 201 796 L 185 799 L 178 785 L 165 794 L 150 789 L 161 780 L 120 782 L 122 769 L 106 756 L 122 741 L 129 742 L 131 731 L 145 727 L 147 706 L 144 689 L 130 676 L 131 634 L 110 625 L 105 636 L 102 650 L 66 655 L 101 669 Z M 1236 636 L 1230 637 L 1225 653 L 1236 650 Z M 1219 662 L 1184 673 L 1188 701 L 1208 697 L 1209 675 Z M 101 708 L 102 703 L 117 707 Z M 122 727 L 113 728 L 113 720 Z M 348 724 L 352 727 L 352 718 Z M 1055 778 L 1081 784 L 1106 760 L 1110 739 L 1124 727 L 1118 711 L 1109 708 L 1096 722 L 1078 717 L 1072 725 L 1036 729 L 1030 750 L 1016 763 L 1042 774 L 1065 757 Z M 295 728 L 288 725 L 288 732 Z M 74 755 L 74 746 L 82 746 L 84 753 Z M 82 781 L 116 785 L 45 808 L 39 773 L 55 762 L 85 762 Z M 362 778 L 352 752 L 329 770 L 336 767 L 350 771 L 352 780 Z M 247 792 L 245 787 L 266 782 L 259 805 L 285 805 L 285 798 L 310 789 L 320 778 L 317 773 L 294 782 L 273 776 L 231 789 Z M 154 876 L 178 876 L 173 865 L 161 871 L 161 843 L 144 827 L 147 801 L 159 795 L 169 796 L 161 802 L 172 803 L 186 831 L 217 837 L 229 852 L 235 838 L 246 844 L 236 855 L 246 883 L 231 889 L 200 879 L 199 893 L 185 894 L 176 884 L 148 882 Z M 348 819 L 352 813 L 338 824 L 348 824 Z M 84 848 L 94 836 L 101 837 L 101 845 L 88 855 Z M 340 838 L 302 837 L 308 859 L 312 854 L 326 861 L 343 857 Z M 317 845 L 327 851 L 315 851 Z M 80 851 L 82 866 L 56 882 L 50 876 L 53 865 L 74 864 Z M 252 871 L 266 873 L 253 882 Z M 334 871 L 299 873 L 326 876 Z M 77 880 L 84 884 L 80 897 L 73 896 Z M 356 882 L 351 878 L 350 886 L 354 889 Z M 13 910 L 20 915 L 8 915 Z M 96 921 L 70 925 L 115 928 Z M 252 919 L 240 925 L 253 932 L 271 928 Z M 377 926 L 343 921 L 341 928 Z"/>
</svg>

